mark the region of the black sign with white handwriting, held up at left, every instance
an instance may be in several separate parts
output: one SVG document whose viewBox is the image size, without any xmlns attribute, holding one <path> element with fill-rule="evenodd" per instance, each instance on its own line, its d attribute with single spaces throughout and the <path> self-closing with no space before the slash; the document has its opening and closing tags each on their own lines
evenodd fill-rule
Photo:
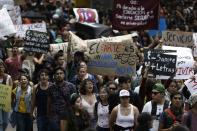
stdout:
<svg viewBox="0 0 197 131">
<path fill-rule="evenodd" d="M 27 52 L 46 54 L 50 49 L 48 35 L 44 32 L 27 30 L 25 41 L 24 50 Z"/>
</svg>

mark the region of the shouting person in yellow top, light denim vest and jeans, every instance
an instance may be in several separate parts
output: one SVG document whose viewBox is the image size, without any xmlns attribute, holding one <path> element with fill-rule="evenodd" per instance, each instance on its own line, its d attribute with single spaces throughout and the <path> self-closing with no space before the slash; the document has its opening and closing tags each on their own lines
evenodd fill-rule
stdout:
<svg viewBox="0 0 197 131">
<path fill-rule="evenodd" d="M 32 95 L 33 87 L 29 84 L 29 76 L 21 74 L 19 85 L 13 90 L 12 101 L 16 112 L 16 131 L 32 131 Z"/>
</svg>

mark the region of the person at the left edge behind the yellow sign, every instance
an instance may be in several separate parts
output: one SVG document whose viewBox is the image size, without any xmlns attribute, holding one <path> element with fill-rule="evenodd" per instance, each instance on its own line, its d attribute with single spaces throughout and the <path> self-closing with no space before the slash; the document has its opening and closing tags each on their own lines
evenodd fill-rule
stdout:
<svg viewBox="0 0 197 131">
<path fill-rule="evenodd" d="M 8 75 L 6 72 L 6 65 L 5 63 L 0 59 L 0 83 L 3 85 L 8 85 L 10 88 L 12 88 L 12 78 L 10 75 Z M 3 109 L 0 109 L 0 130 L 5 131 L 8 126 L 8 115 L 9 112 L 4 111 Z"/>
</svg>

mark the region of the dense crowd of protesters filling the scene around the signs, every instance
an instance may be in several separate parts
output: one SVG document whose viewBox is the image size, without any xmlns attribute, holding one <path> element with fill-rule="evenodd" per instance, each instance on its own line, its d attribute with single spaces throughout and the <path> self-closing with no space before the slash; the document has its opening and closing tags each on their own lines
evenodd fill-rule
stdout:
<svg viewBox="0 0 197 131">
<path fill-rule="evenodd" d="M 45 21 L 50 43 L 67 42 L 68 31 L 75 31 L 74 6 L 30 1 L 21 6 L 22 12 L 37 10 L 44 18 L 23 18 L 23 23 Z M 196 7 L 194 0 L 161 0 L 160 16 L 170 30 L 195 32 Z M 100 23 L 111 26 L 111 11 L 100 11 L 99 16 Z M 130 32 L 120 32 L 125 33 Z M 191 95 L 174 76 L 161 81 L 150 77 L 144 65 L 143 49 L 160 47 L 161 34 L 150 37 L 140 30 L 131 37 L 138 49 L 132 77 L 90 74 L 83 52 L 68 61 L 62 50 L 55 55 L 35 53 L 30 73 L 22 68 L 28 56 L 19 52 L 21 41 L 1 40 L 0 83 L 12 87 L 13 112 L 9 116 L 0 109 L 0 131 L 6 131 L 9 122 L 17 131 L 33 131 L 34 120 L 38 131 L 196 131 L 197 94 Z"/>
</svg>

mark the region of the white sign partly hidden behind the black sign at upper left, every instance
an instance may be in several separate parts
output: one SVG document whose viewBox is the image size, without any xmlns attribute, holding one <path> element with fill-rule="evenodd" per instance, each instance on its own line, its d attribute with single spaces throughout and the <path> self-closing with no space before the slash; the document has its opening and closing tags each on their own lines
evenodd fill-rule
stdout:
<svg viewBox="0 0 197 131">
<path fill-rule="evenodd" d="M 19 38 L 24 38 L 27 30 L 47 32 L 46 23 L 15 25 L 15 29 L 16 29 L 15 37 L 19 37 Z"/>
</svg>

